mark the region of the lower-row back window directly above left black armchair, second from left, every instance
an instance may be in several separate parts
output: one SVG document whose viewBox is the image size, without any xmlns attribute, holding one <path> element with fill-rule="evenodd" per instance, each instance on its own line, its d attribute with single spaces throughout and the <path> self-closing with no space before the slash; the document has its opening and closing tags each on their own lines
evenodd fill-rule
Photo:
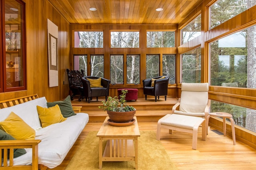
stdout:
<svg viewBox="0 0 256 170">
<path fill-rule="evenodd" d="M 104 77 L 104 55 L 91 55 L 91 76 Z"/>
</svg>

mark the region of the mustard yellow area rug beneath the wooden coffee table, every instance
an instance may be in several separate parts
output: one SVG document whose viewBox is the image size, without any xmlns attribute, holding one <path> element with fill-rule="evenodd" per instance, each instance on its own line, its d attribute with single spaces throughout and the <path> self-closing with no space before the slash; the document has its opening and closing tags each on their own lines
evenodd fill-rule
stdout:
<svg viewBox="0 0 256 170">
<path fill-rule="evenodd" d="M 80 148 L 70 160 L 66 170 L 98 170 L 99 138 L 97 132 L 89 132 Z M 104 141 L 106 145 L 106 141 Z M 105 146 L 104 146 L 105 148 Z M 131 170 L 135 162 L 103 162 L 102 170 Z M 176 170 L 164 146 L 156 140 L 156 132 L 140 131 L 138 137 L 138 170 Z"/>
</svg>

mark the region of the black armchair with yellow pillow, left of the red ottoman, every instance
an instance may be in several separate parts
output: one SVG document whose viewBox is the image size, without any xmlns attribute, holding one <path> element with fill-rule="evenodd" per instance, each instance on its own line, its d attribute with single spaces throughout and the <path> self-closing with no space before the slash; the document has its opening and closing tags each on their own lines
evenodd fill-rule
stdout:
<svg viewBox="0 0 256 170">
<path fill-rule="evenodd" d="M 100 81 L 96 82 L 99 79 Z M 109 95 L 110 80 L 96 76 L 85 76 L 82 77 L 82 83 L 84 88 L 83 97 L 85 97 L 86 101 L 88 98 L 88 103 L 90 103 L 92 97 L 96 97 L 98 101 L 98 97 L 100 96 L 105 96 L 107 101 Z"/>
</svg>

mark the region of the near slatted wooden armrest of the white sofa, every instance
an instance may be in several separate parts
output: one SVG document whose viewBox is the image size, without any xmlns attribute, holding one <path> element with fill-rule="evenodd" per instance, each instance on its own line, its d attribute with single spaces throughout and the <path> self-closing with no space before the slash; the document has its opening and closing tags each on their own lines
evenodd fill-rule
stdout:
<svg viewBox="0 0 256 170">
<path fill-rule="evenodd" d="M 22 169 L 32 167 L 32 170 L 38 169 L 38 144 L 41 140 L 1 140 L 0 141 L 0 149 L 4 150 L 4 159 L 0 159 L 0 169 L 6 169 L 6 167 L 12 167 L 11 169 Z M 32 166 L 24 165 L 24 166 L 14 166 L 13 165 L 13 155 L 14 148 L 32 148 Z M 7 150 L 10 149 L 10 162 L 8 165 L 7 158 Z M 0 152 L 0 156 L 2 157 L 2 152 Z"/>
</svg>

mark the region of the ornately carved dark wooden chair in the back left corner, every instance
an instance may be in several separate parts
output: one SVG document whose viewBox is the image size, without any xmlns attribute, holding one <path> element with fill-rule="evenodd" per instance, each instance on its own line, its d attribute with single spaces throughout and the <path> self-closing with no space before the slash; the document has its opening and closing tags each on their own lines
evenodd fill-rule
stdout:
<svg viewBox="0 0 256 170">
<path fill-rule="evenodd" d="M 78 97 L 78 101 L 82 100 L 82 77 L 84 77 L 84 70 L 81 69 L 81 72 L 78 70 L 67 69 L 68 73 L 68 85 L 69 89 L 72 92 L 70 99 L 73 100 L 74 97 Z"/>
</svg>

